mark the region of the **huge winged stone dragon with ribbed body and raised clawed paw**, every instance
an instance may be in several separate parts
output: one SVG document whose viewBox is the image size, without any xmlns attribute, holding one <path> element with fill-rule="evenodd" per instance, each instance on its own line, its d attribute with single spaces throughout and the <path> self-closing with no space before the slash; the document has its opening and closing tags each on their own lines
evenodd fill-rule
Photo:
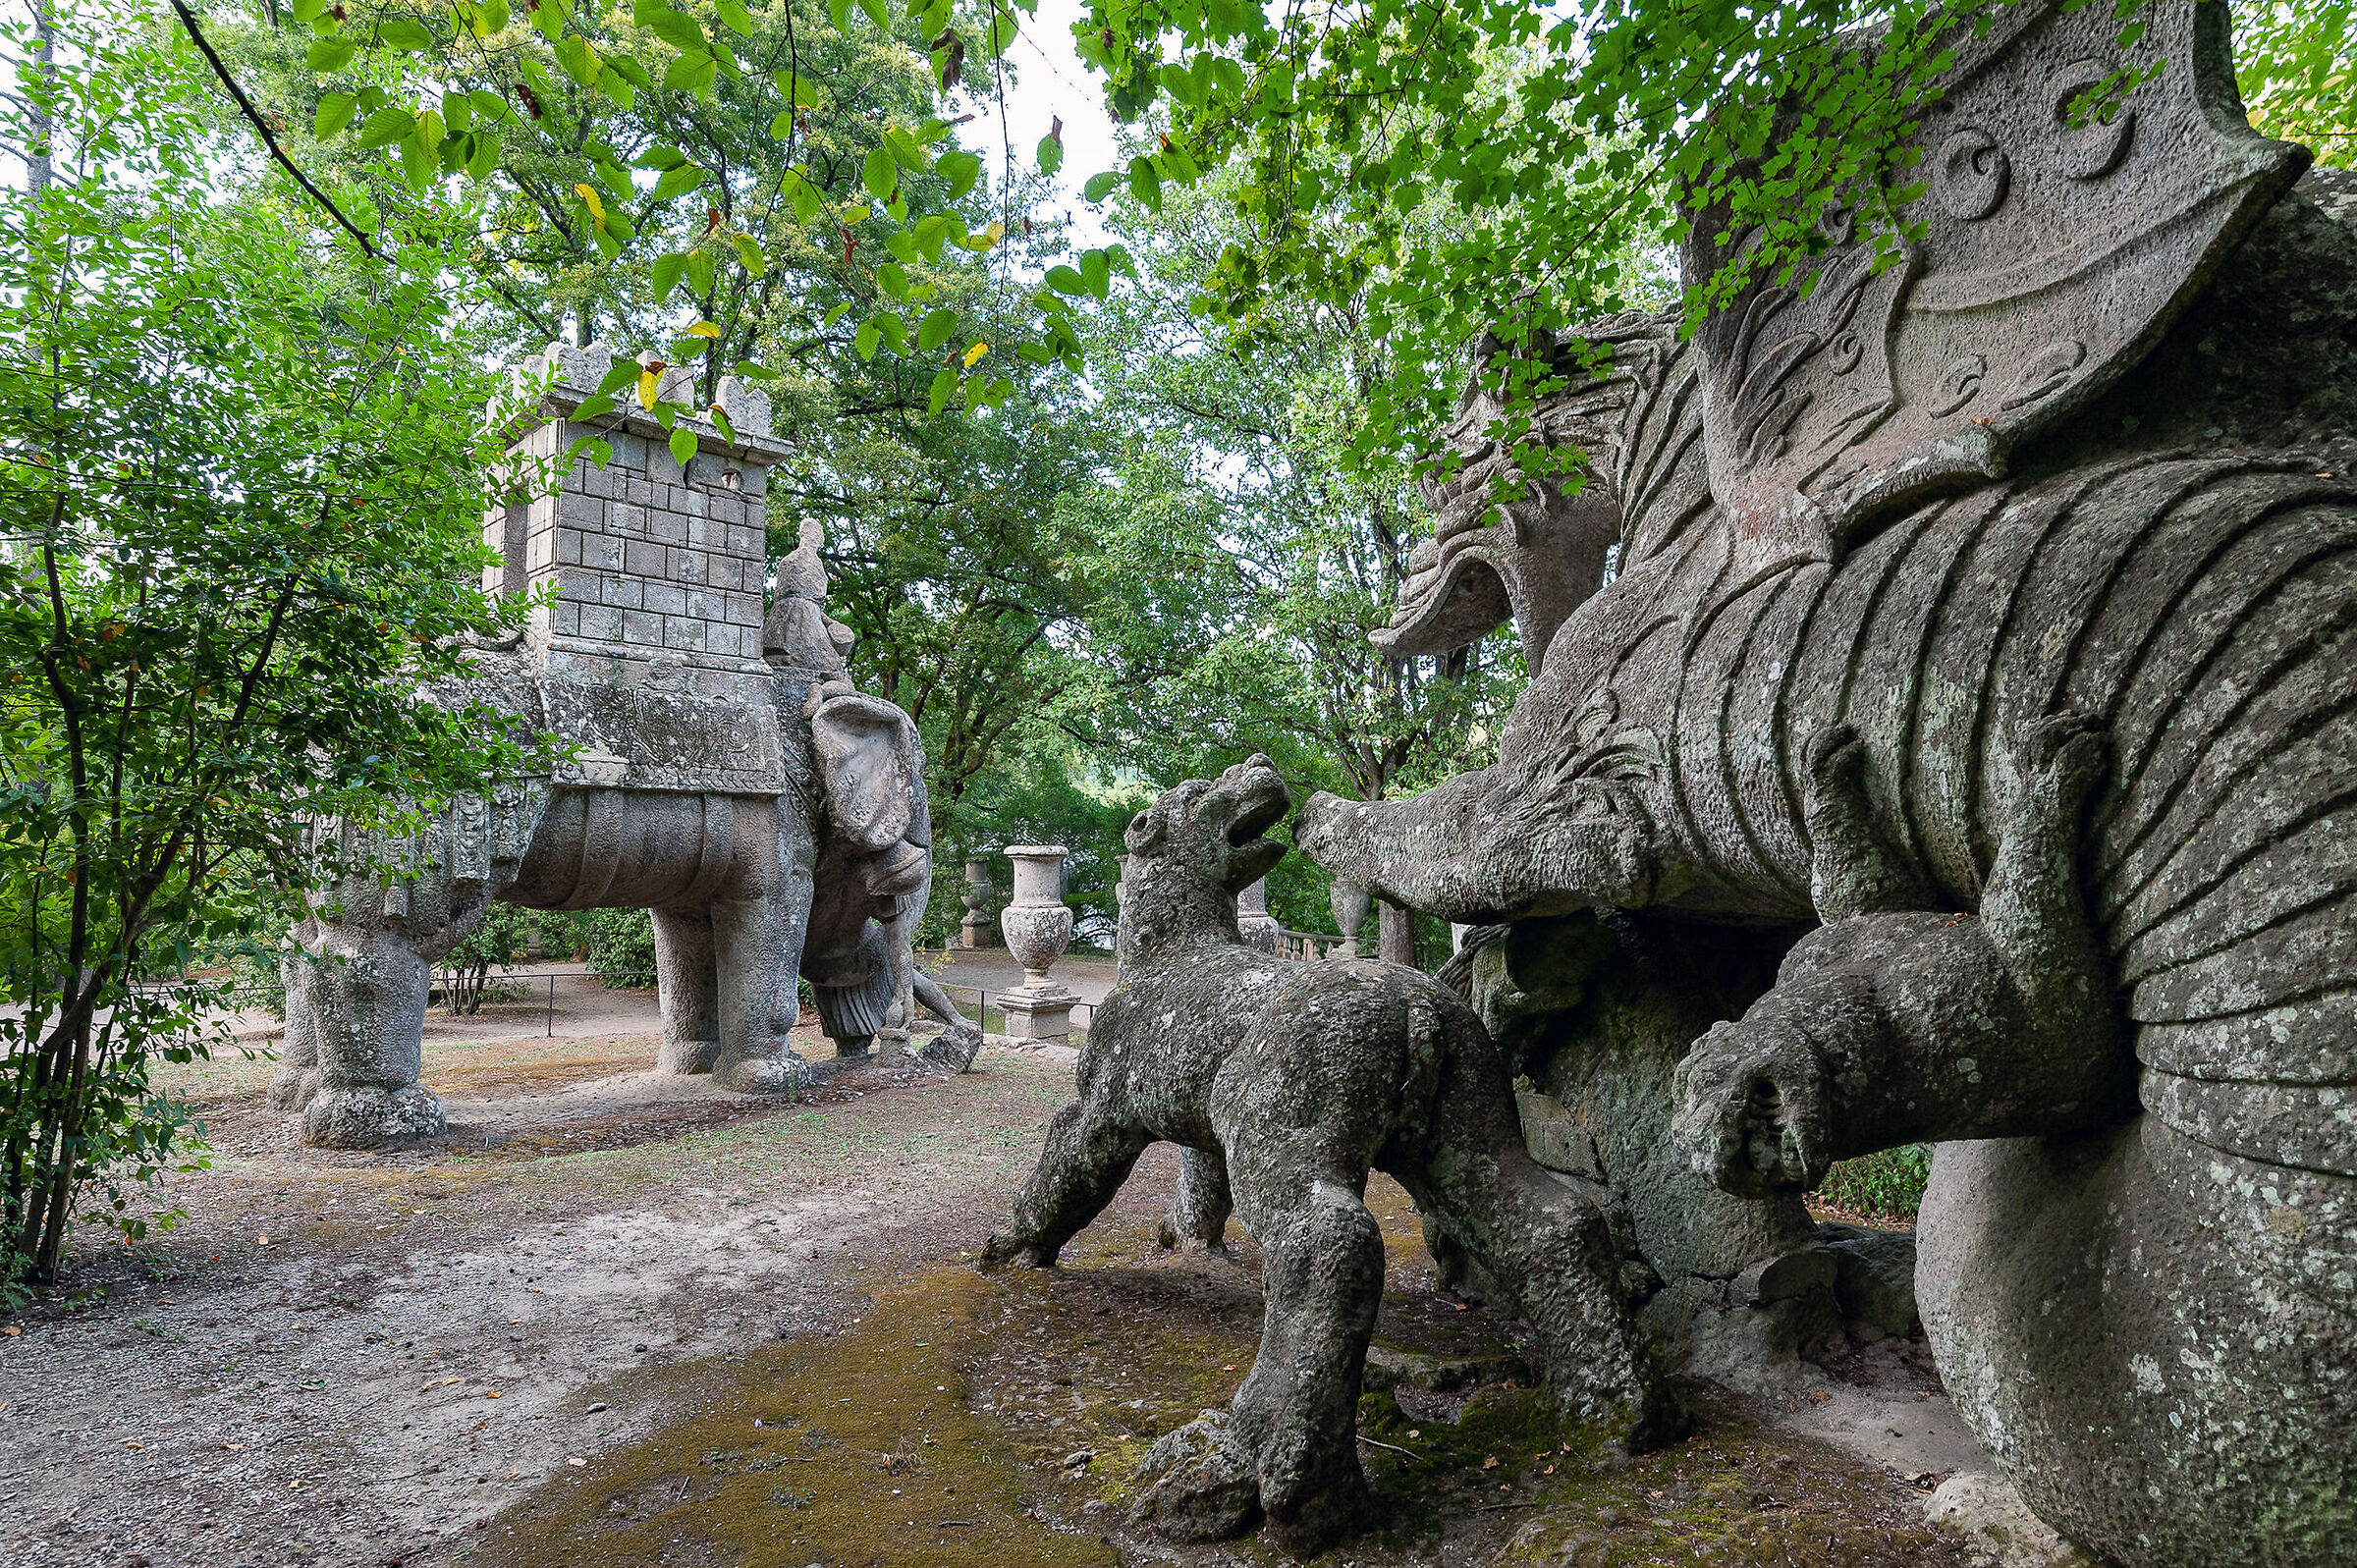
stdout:
<svg viewBox="0 0 2357 1568">
<path fill-rule="evenodd" d="M 2324 1568 L 2357 1540 L 2357 189 L 2293 189 L 2242 120 L 2225 7 L 2143 14 L 2119 50 L 2008 7 L 1961 52 L 1897 266 L 1834 212 L 1813 288 L 1589 328 L 1610 370 L 1567 363 L 1541 427 L 1615 573 L 1494 766 L 1318 797 L 1299 842 L 1459 922 L 1820 924 L 1678 1068 L 1699 1170 L 1794 1193 L 1940 1141 L 1923 1318 L 2027 1502 L 2131 1568 Z M 2072 125 L 2114 61 L 2166 68 Z M 1742 243 L 1714 222 L 1690 276 Z M 1395 627 L 1563 549 L 1483 521 L 1494 413 L 1475 382 Z"/>
</svg>

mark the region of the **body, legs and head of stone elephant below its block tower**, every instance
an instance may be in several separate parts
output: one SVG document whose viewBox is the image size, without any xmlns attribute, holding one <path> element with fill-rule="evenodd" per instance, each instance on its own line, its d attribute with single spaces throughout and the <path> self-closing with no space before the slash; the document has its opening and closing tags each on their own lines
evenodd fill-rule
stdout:
<svg viewBox="0 0 2357 1568">
<path fill-rule="evenodd" d="M 332 832 L 349 872 L 295 931 L 271 1085 L 306 1141 L 443 1132 L 417 1082 L 429 969 L 493 901 L 651 910 L 665 1070 L 740 1092 L 808 1085 L 790 1049 L 797 974 L 846 1054 L 896 1007 L 905 1040 L 931 835 L 922 745 L 898 707 L 792 667 L 757 677 L 754 700 L 676 689 L 660 665 L 641 686 L 568 684 L 504 651 L 481 670 L 453 703 L 575 738 L 575 757 L 401 839 Z"/>
</svg>

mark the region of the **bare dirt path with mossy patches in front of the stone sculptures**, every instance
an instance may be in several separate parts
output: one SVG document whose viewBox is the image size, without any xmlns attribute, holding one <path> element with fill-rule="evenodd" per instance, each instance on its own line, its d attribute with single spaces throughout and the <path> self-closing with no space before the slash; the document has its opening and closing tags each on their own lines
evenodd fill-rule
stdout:
<svg viewBox="0 0 2357 1568">
<path fill-rule="evenodd" d="M 429 1045 L 453 1134 L 396 1155 L 292 1144 L 269 1063 L 191 1073 L 217 1158 L 189 1221 L 0 1323 L 0 1561 L 1280 1561 L 1122 1523 L 1134 1460 L 1259 1332 L 1249 1240 L 1150 1245 L 1171 1151 L 1068 1269 L 971 1269 L 1068 1054 L 778 1103 L 655 1080 L 653 1045 Z M 1888 1469 L 1732 1396 L 1631 1467 L 1565 1452 L 1513 1325 L 1438 1292 L 1395 1186 L 1369 1200 L 1398 1389 L 1362 1408 L 1374 1533 L 1334 1561 L 1968 1561 Z"/>
</svg>

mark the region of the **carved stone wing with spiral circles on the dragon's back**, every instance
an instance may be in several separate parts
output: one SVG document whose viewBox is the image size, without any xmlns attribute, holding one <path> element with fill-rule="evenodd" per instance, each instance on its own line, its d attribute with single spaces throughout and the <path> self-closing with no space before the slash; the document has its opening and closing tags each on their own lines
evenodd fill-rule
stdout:
<svg viewBox="0 0 2357 1568">
<path fill-rule="evenodd" d="M 2225 12 L 2150 0 L 2121 50 L 2112 7 L 2003 9 L 1959 38 L 1914 132 L 1921 243 L 1876 271 L 1829 212 L 1813 274 L 1761 276 L 1702 323 L 1711 490 L 1751 566 L 1836 559 L 1897 507 L 2001 476 L 2159 342 L 2308 167 L 2244 120 Z M 2147 75 L 2074 130 L 2074 99 L 2121 68 Z M 1704 212 L 1688 285 L 1749 241 Z"/>
</svg>

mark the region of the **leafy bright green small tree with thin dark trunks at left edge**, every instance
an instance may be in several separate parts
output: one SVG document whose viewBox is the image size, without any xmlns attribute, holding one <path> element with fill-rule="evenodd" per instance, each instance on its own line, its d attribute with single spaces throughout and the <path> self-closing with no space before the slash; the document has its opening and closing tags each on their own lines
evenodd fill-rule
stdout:
<svg viewBox="0 0 2357 1568">
<path fill-rule="evenodd" d="M 144 1231 L 189 1158 L 148 1066 L 205 1049 L 172 981 L 285 920 L 304 821 L 526 762 L 422 689 L 514 615 L 448 278 L 321 252 L 186 47 L 59 21 L 73 68 L 0 104 L 52 153 L 0 198 L 0 1280 L 54 1276 L 78 1212 Z"/>
</svg>

